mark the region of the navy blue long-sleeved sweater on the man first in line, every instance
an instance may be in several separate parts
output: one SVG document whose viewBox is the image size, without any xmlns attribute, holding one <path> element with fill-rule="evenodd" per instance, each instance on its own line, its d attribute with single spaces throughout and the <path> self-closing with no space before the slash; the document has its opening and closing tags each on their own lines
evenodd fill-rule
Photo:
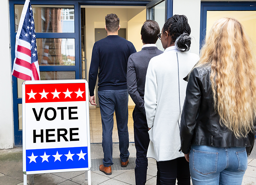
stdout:
<svg viewBox="0 0 256 185">
<path fill-rule="evenodd" d="M 93 46 L 89 70 L 89 93 L 94 95 L 98 70 L 98 90 L 127 89 L 127 61 L 136 49 L 133 44 L 118 35 L 109 35 Z"/>
</svg>

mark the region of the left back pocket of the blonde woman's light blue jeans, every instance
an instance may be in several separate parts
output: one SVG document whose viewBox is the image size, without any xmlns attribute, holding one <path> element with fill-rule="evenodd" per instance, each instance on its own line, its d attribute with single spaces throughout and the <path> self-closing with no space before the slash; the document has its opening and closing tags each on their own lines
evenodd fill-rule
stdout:
<svg viewBox="0 0 256 185">
<path fill-rule="evenodd" d="M 193 149 L 193 169 L 203 175 L 217 171 L 217 152 L 205 152 Z"/>
</svg>

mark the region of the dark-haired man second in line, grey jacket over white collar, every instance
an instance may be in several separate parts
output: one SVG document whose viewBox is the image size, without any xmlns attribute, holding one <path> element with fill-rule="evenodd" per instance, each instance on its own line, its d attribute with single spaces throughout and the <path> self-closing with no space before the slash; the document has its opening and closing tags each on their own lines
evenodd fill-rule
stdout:
<svg viewBox="0 0 256 185">
<path fill-rule="evenodd" d="M 132 112 L 134 127 L 134 143 L 136 147 L 136 185 L 145 185 L 147 178 L 147 149 L 150 142 L 144 107 L 144 89 L 148 63 L 163 51 L 157 49 L 156 41 L 160 28 L 153 20 L 146 20 L 141 28 L 142 50 L 132 54 L 127 66 L 128 92 L 135 103 Z M 157 174 L 157 184 L 159 173 Z"/>
</svg>

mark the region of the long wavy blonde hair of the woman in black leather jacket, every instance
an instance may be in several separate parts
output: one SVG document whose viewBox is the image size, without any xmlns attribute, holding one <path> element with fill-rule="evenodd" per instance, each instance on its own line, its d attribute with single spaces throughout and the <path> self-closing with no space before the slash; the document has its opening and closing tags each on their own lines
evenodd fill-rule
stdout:
<svg viewBox="0 0 256 185">
<path fill-rule="evenodd" d="M 245 137 L 256 115 L 256 61 L 252 42 L 241 23 L 233 18 L 217 20 L 205 41 L 197 66 L 211 65 L 214 107 L 220 123 Z"/>
</svg>

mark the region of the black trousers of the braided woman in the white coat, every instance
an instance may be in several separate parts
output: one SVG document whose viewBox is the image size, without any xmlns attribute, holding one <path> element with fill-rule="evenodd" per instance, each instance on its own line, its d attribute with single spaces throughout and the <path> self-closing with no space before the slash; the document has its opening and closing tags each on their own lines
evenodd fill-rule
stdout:
<svg viewBox="0 0 256 185">
<path fill-rule="evenodd" d="M 158 161 L 161 185 L 190 185 L 189 163 L 185 157 L 173 160 Z"/>
</svg>

